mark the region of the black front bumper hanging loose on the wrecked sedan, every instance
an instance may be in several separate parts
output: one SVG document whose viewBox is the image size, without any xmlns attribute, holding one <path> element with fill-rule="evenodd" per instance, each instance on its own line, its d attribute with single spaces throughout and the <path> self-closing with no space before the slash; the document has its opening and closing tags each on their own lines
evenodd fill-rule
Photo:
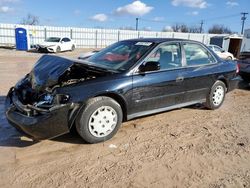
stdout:
<svg viewBox="0 0 250 188">
<path fill-rule="evenodd" d="M 9 123 L 37 140 L 68 133 L 69 109 L 69 104 L 57 105 L 47 111 L 33 109 L 18 100 L 14 89 L 9 91 L 5 102 L 5 113 Z M 34 110 L 36 115 L 31 115 Z"/>
</svg>

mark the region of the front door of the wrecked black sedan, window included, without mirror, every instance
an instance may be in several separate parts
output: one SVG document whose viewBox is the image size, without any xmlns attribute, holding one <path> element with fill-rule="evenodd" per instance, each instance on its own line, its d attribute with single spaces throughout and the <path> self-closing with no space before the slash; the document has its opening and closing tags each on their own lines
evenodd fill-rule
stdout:
<svg viewBox="0 0 250 188">
<path fill-rule="evenodd" d="M 183 102 L 183 66 L 178 42 L 164 43 L 144 63 L 158 61 L 160 70 L 133 75 L 131 113 L 158 111 Z"/>
</svg>

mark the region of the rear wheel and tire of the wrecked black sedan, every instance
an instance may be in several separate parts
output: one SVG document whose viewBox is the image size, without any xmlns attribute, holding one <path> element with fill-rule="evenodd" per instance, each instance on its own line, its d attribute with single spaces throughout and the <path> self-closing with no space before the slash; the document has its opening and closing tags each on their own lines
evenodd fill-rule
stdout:
<svg viewBox="0 0 250 188">
<path fill-rule="evenodd" d="M 224 102 L 226 91 L 226 85 L 222 81 L 217 80 L 207 96 L 205 106 L 211 110 L 219 108 Z"/>
</svg>

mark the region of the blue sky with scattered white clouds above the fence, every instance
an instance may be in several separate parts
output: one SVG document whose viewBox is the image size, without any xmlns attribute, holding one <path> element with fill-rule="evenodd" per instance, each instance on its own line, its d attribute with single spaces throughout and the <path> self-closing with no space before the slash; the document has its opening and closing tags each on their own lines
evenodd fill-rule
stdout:
<svg viewBox="0 0 250 188">
<path fill-rule="evenodd" d="M 241 12 L 250 13 L 250 0 L 0 0 L 0 23 L 20 23 L 32 14 L 39 25 L 87 28 L 135 28 L 139 18 L 139 30 L 200 26 L 203 20 L 205 32 L 214 24 L 240 32 Z"/>
</svg>

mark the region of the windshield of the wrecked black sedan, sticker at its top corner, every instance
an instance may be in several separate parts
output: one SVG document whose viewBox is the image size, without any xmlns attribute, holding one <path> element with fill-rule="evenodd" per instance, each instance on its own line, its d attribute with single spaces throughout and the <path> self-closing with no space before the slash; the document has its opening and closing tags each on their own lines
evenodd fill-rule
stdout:
<svg viewBox="0 0 250 188">
<path fill-rule="evenodd" d="M 123 71 L 133 66 L 151 47 L 152 42 L 121 41 L 94 54 L 87 61 L 93 66 Z"/>
</svg>

